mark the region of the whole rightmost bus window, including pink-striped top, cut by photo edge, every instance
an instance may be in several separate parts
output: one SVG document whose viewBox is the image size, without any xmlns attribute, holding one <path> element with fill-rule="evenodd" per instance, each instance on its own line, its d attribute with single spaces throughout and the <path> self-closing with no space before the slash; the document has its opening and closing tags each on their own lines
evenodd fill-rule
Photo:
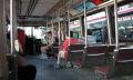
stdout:
<svg viewBox="0 0 133 80">
<path fill-rule="evenodd" d="M 133 41 L 133 3 L 119 7 L 120 42 Z"/>
</svg>

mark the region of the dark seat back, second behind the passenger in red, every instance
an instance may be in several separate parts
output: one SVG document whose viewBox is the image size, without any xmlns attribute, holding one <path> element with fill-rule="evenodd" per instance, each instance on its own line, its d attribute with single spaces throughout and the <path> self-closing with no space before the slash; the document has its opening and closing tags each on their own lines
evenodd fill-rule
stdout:
<svg viewBox="0 0 133 80">
<path fill-rule="evenodd" d="M 103 66 L 106 61 L 106 46 L 91 46 L 85 49 L 84 67 Z"/>
</svg>

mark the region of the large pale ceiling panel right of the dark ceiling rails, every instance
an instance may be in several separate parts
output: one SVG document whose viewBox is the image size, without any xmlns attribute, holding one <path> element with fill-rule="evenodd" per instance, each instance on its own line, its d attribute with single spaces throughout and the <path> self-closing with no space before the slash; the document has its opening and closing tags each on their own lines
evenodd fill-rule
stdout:
<svg viewBox="0 0 133 80">
<path fill-rule="evenodd" d="M 60 0 L 39 0 L 35 6 L 32 16 L 44 16 L 52 7 L 54 7 Z"/>
</svg>

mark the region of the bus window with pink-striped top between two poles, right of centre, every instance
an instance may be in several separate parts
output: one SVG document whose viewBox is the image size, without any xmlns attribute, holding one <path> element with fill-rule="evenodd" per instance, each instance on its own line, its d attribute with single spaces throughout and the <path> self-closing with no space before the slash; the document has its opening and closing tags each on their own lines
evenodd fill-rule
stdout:
<svg viewBox="0 0 133 80">
<path fill-rule="evenodd" d="M 105 11 L 101 11 L 86 17 L 88 29 L 96 38 L 96 42 L 104 43 L 108 38 Z"/>
</svg>

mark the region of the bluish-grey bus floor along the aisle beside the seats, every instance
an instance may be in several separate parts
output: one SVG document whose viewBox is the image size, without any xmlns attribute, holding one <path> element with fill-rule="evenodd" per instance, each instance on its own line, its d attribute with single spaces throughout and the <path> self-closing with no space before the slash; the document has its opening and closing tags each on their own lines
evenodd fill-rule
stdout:
<svg viewBox="0 0 133 80">
<path fill-rule="evenodd" d="M 92 70 L 81 68 L 61 68 L 55 69 L 54 59 L 42 60 L 39 56 L 25 57 L 28 63 L 37 67 L 35 80 L 108 80 L 95 74 Z M 133 80 L 133 77 L 122 77 L 111 80 Z"/>
</svg>

